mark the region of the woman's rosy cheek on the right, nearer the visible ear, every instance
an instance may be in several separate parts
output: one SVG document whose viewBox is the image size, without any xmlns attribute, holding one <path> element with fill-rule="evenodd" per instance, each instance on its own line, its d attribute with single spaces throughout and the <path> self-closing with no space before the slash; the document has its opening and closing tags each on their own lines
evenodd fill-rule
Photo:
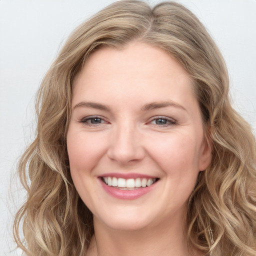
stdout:
<svg viewBox="0 0 256 256">
<path fill-rule="evenodd" d="M 185 203 L 194 189 L 199 173 L 200 147 L 195 137 L 185 133 L 173 134 L 169 139 L 159 141 L 151 155 L 165 173 L 166 194 L 177 205 Z"/>
</svg>

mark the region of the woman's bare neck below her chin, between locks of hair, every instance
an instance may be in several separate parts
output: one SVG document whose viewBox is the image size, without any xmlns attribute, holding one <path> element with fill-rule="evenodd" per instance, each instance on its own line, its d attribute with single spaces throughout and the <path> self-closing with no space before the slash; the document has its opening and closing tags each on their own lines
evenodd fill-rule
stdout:
<svg viewBox="0 0 256 256">
<path fill-rule="evenodd" d="M 181 219 L 139 230 L 116 230 L 94 217 L 94 236 L 87 256 L 189 256 Z M 183 219 L 181 220 L 184 223 Z"/>
</svg>

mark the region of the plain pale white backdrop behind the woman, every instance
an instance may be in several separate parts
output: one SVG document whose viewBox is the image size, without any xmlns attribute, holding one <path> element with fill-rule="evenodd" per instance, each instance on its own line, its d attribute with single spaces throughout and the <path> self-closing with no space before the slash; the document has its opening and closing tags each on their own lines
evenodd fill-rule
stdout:
<svg viewBox="0 0 256 256">
<path fill-rule="evenodd" d="M 70 31 L 113 0 L 0 0 L 0 255 L 24 200 L 15 169 L 33 138 L 34 95 Z M 155 4 L 158 0 L 149 0 Z M 256 0 L 179 0 L 206 25 L 226 60 L 234 107 L 256 129 Z"/>
</svg>

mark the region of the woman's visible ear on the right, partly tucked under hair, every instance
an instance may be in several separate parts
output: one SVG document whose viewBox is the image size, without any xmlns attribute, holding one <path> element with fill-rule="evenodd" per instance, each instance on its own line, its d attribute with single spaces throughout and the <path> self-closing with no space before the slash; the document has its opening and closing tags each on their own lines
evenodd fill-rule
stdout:
<svg viewBox="0 0 256 256">
<path fill-rule="evenodd" d="M 199 171 L 205 170 L 211 161 L 211 149 L 212 149 L 212 141 L 209 136 L 204 136 L 201 145 L 201 155 L 199 158 Z"/>
</svg>

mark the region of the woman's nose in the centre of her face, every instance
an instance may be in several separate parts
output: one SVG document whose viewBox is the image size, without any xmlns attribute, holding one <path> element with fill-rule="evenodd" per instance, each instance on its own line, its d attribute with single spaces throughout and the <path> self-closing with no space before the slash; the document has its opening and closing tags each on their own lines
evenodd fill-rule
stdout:
<svg viewBox="0 0 256 256">
<path fill-rule="evenodd" d="M 145 156 L 142 136 L 135 126 L 122 124 L 112 130 L 107 155 L 120 165 L 140 161 Z"/>
</svg>

